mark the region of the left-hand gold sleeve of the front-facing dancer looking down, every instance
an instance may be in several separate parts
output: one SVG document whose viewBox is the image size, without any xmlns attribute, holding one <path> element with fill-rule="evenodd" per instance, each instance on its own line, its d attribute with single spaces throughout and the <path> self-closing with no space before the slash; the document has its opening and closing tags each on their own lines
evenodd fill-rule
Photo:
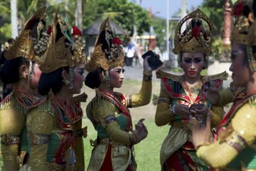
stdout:
<svg viewBox="0 0 256 171">
<path fill-rule="evenodd" d="M 169 97 L 168 93 L 163 87 L 163 83 L 161 82 L 161 90 L 155 116 L 155 123 L 157 126 L 166 125 L 174 119 L 175 115 L 169 109 L 171 101 L 172 99 Z"/>
</svg>

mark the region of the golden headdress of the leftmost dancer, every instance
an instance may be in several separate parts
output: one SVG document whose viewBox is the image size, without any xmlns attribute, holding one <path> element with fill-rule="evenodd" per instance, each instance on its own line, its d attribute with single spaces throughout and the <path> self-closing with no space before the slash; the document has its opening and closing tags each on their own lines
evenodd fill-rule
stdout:
<svg viewBox="0 0 256 171">
<path fill-rule="evenodd" d="M 6 46 L 5 58 L 7 60 L 23 56 L 25 59 L 33 61 L 36 55 L 41 56 L 46 52 L 50 29 L 45 10 L 46 7 L 38 9 L 26 22 L 23 31 L 16 37 L 12 45 Z M 34 32 L 37 35 L 34 35 Z"/>
</svg>

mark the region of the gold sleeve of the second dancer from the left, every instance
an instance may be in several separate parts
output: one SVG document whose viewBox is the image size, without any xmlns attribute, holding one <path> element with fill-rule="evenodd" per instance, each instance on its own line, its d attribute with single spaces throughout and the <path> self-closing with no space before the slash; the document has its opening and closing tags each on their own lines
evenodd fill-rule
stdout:
<svg viewBox="0 0 256 171">
<path fill-rule="evenodd" d="M 28 114 L 29 165 L 32 170 L 47 170 L 47 150 L 54 122 L 56 122 L 54 115 L 48 112 L 39 112 L 37 108 L 32 109 Z"/>
</svg>

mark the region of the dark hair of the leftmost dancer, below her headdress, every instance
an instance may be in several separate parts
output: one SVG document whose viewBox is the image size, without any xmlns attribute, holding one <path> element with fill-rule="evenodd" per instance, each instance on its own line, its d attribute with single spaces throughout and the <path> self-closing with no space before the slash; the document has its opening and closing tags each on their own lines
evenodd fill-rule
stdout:
<svg viewBox="0 0 256 171">
<path fill-rule="evenodd" d="M 16 83 L 19 80 L 19 68 L 22 65 L 29 67 L 29 62 L 23 57 L 14 58 L 13 60 L 6 60 L 0 70 L 0 79 L 5 84 Z"/>
</svg>

